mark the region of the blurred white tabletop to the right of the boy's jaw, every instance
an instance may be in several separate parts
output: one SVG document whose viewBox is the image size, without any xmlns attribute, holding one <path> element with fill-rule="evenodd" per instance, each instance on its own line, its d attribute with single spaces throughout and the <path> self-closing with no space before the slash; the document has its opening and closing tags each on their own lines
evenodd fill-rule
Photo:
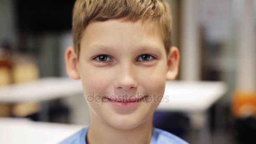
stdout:
<svg viewBox="0 0 256 144">
<path fill-rule="evenodd" d="M 227 87 L 223 82 L 166 81 L 164 98 L 157 109 L 203 112 L 220 99 L 226 91 Z"/>
</svg>

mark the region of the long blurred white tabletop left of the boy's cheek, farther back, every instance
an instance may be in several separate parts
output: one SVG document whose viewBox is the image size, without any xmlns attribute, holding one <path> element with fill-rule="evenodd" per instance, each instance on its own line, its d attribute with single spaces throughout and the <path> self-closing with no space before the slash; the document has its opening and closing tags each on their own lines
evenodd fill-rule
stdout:
<svg viewBox="0 0 256 144">
<path fill-rule="evenodd" d="M 32 82 L 0 87 L 0 102 L 47 101 L 82 93 L 80 80 L 46 77 Z"/>
</svg>

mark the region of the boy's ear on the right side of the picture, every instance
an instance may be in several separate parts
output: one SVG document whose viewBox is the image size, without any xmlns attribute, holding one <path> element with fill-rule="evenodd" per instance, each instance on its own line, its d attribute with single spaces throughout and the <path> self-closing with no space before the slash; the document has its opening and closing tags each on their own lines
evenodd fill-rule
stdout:
<svg viewBox="0 0 256 144">
<path fill-rule="evenodd" d="M 174 80 L 179 72 L 179 49 L 171 47 L 167 57 L 166 80 Z"/>
</svg>

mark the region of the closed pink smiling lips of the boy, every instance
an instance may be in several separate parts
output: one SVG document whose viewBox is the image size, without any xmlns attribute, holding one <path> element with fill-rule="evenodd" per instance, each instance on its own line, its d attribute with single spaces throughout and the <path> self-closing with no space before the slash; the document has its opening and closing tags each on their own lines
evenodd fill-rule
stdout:
<svg viewBox="0 0 256 144">
<path fill-rule="evenodd" d="M 118 107 L 118 108 L 132 108 L 132 107 L 137 107 L 141 101 L 146 98 L 146 96 L 140 97 L 140 98 L 136 98 L 136 99 L 109 99 L 107 98 L 107 100 L 109 101 L 110 104 L 112 104 L 114 107 Z"/>
</svg>

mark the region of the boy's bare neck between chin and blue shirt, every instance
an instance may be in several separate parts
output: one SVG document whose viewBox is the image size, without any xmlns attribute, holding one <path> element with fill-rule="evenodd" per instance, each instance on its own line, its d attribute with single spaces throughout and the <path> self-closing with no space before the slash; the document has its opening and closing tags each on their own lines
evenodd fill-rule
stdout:
<svg viewBox="0 0 256 144">
<path fill-rule="evenodd" d="M 99 120 L 91 113 L 91 125 L 87 132 L 88 144 L 149 144 L 152 137 L 152 117 L 131 130 L 119 130 Z"/>
</svg>

